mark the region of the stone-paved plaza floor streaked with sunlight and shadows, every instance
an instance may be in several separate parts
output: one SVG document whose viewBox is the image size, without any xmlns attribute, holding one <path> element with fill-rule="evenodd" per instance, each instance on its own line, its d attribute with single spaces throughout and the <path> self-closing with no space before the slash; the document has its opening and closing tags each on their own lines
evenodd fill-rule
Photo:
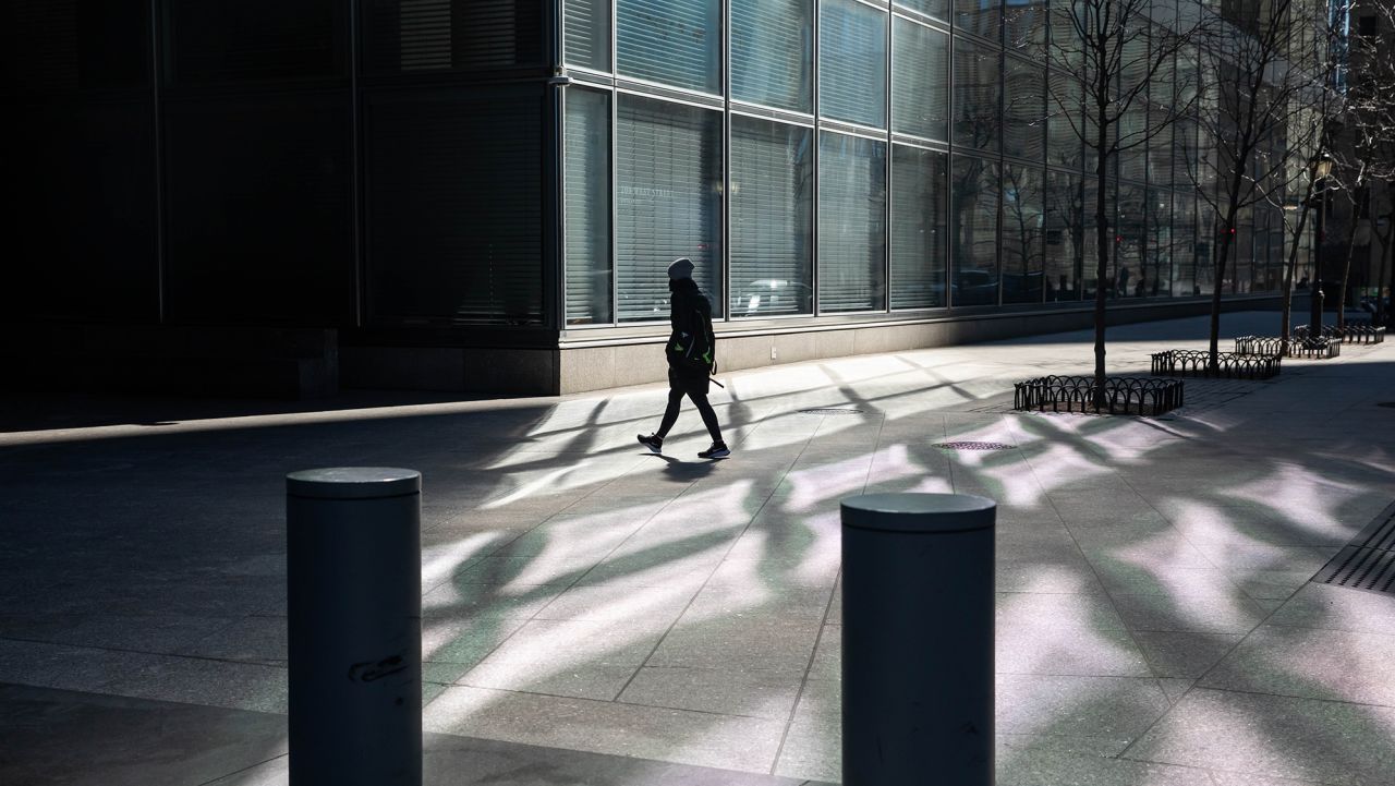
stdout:
<svg viewBox="0 0 1395 786">
<path fill-rule="evenodd" d="M 1112 328 L 1110 371 L 1204 334 Z M 0 782 L 285 783 L 283 476 L 398 465 L 424 475 L 430 783 L 837 782 L 838 500 L 961 491 L 999 501 L 1000 786 L 1388 785 L 1395 595 L 1309 579 L 1395 500 L 1395 342 L 1189 380 L 1156 419 L 1010 412 L 1089 341 L 727 374 L 721 462 L 691 408 L 664 457 L 635 443 L 651 385 L 25 402 L 0 433 Z"/>
</svg>

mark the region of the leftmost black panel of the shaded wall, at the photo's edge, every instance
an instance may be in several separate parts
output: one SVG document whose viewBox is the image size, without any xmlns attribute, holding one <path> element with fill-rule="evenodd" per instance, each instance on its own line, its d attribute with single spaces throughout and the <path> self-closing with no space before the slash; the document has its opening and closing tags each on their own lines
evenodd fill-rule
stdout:
<svg viewBox="0 0 1395 786">
<path fill-rule="evenodd" d="M 0 314 L 158 318 L 148 6 L 0 6 Z"/>
</svg>

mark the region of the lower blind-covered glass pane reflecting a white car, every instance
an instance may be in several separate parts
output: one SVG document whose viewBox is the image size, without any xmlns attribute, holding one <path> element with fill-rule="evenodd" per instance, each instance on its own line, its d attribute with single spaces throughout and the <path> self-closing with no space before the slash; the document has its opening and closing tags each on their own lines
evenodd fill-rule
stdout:
<svg viewBox="0 0 1395 786">
<path fill-rule="evenodd" d="M 813 131 L 731 117 L 731 316 L 813 310 Z"/>
</svg>

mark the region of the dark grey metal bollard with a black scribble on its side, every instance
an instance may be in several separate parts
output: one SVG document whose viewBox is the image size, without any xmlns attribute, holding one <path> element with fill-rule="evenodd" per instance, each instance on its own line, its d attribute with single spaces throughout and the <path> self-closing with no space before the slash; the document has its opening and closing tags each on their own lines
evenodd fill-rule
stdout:
<svg viewBox="0 0 1395 786">
<path fill-rule="evenodd" d="M 286 476 L 290 783 L 421 785 L 421 473 Z"/>
</svg>

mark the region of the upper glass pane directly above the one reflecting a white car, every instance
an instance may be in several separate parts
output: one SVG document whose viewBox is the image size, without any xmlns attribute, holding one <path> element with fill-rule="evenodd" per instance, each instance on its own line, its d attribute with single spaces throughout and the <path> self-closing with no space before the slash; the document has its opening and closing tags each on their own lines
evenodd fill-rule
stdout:
<svg viewBox="0 0 1395 786">
<path fill-rule="evenodd" d="M 731 96 L 813 112 L 813 0 L 732 0 Z"/>
</svg>

